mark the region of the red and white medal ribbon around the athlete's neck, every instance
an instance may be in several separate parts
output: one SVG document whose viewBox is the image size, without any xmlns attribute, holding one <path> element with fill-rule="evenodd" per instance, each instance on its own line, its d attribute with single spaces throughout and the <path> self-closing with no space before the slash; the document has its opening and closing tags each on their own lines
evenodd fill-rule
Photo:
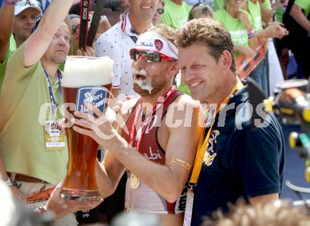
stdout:
<svg viewBox="0 0 310 226">
<path fill-rule="evenodd" d="M 161 106 L 163 106 L 163 104 L 166 103 L 166 101 L 168 101 L 168 99 L 170 99 L 170 97 L 174 93 L 175 93 L 175 86 L 172 86 L 171 89 L 169 89 L 168 92 L 166 92 L 166 94 L 163 94 L 163 96 L 159 97 L 159 101 L 157 101 L 156 105 L 154 106 L 153 112 L 151 113 L 151 115 L 149 115 L 149 117 L 144 120 L 142 128 L 140 125 L 140 128 L 137 129 L 137 132 L 139 130 L 142 131 L 141 135 L 140 135 L 140 139 L 138 139 L 138 141 L 137 141 L 137 150 L 138 151 L 140 149 L 140 145 L 141 145 L 141 141 L 142 141 L 142 138 L 144 136 L 144 133 L 147 130 L 147 126 L 151 122 L 151 118 L 153 117 L 154 113 L 156 113 L 157 109 L 161 108 Z M 135 144 L 135 127 L 137 125 L 137 120 L 138 120 L 138 117 L 139 117 L 141 112 L 142 112 L 142 101 L 140 99 L 139 103 L 137 103 L 137 108 L 134 112 L 135 118 L 134 118 L 134 121 L 132 123 L 130 138 L 129 138 L 130 139 L 130 141 L 129 141 L 130 146 L 134 146 L 134 144 Z"/>
</svg>

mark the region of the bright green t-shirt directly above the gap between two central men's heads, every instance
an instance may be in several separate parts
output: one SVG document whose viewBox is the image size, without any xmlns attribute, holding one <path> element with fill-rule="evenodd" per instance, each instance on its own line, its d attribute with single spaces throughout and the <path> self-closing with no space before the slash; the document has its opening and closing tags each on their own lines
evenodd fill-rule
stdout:
<svg viewBox="0 0 310 226">
<path fill-rule="evenodd" d="M 185 3 L 185 1 L 183 1 L 182 6 L 180 6 L 171 0 L 166 0 L 165 6 L 163 7 L 164 12 L 161 18 L 161 23 L 173 28 L 179 28 L 187 23 L 191 9 L 192 6 Z"/>
</svg>

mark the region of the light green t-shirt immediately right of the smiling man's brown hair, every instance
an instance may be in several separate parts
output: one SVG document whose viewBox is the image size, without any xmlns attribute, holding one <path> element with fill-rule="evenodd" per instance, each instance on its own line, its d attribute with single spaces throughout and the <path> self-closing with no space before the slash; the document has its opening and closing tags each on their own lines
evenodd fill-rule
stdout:
<svg viewBox="0 0 310 226">
<path fill-rule="evenodd" d="M 247 46 L 249 44 L 245 25 L 241 20 L 233 18 L 224 8 L 214 13 L 214 20 L 221 23 L 230 32 L 235 46 Z M 240 56 L 240 53 L 235 53 L 235 57 L 238 56 Z"/>
</svg>

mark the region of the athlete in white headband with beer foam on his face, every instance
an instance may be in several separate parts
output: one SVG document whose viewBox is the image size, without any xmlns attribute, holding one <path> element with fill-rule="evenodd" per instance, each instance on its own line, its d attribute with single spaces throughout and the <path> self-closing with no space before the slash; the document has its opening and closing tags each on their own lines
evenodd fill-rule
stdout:
<svg viewBox="0 0 310 226">
<path fill-rule="evenodd" d="M 200 132 L 199 103 L 173 85 L 179 70 L 174 39 L 175 31 L 161 25 L 142 34 L 130 50 L 133 89 L 141 98 L 123 103 L 120 112 L 127 123 L 121 131 L 106 122 L 97 108 L 92 111 L 99 121 L 75 112 L 82 120 L 75 120 L 73 127 L 109 150 L 97 167 L 102 196 L 113 194 L 127 170 L 125 208 L 158 214 L 163 226 L 182 225 L 185 184 L 199 137 L 192 135 Z M 186 114 L 186 110 L 191 114 Z"/>
</svg>

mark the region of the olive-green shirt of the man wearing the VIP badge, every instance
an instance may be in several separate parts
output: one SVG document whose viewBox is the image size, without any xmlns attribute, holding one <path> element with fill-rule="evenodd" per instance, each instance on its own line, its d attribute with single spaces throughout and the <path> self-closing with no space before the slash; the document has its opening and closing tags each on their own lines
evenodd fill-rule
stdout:
<svg viewBox="0 0 310 226">
<path fill-rule="evenodd" d="M 66 175 L 68 148 L 66 145 L 61 151 L 45 149 L 44 120 L 49 119 L 50 108 L 46 114 L 40 111 L 44 112 L 42 106 L 50 106 L 49 89 L 41 62 L 24 67 L 24 51 L 22 44 L 6 68 L 0 94 L 0 153 L 7 171 L 58 184 Z M 59 80 L 51 87 L 58 101 Z M 57 118 L 63 118 L 59 109 Z"/>
</svg>

